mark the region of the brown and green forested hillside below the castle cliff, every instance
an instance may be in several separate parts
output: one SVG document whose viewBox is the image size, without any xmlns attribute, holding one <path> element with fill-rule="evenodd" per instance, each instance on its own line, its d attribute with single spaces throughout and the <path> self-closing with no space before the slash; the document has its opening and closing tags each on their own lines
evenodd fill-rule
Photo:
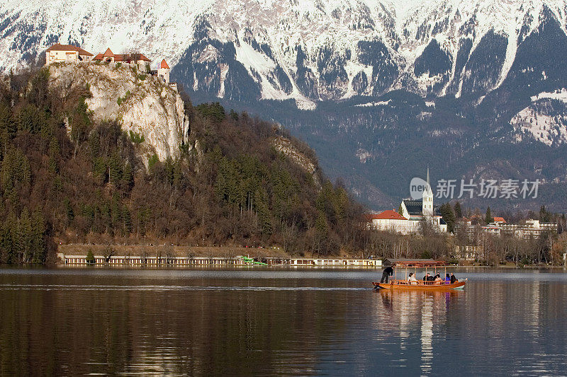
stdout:
<svg viewBox="0 0 567 377">
<path fill-rule="evenodd" d="M 181 157 L 145 166 L 140 135 L 92 120 L 88 86 L 63 93 L 49 82 L 45 69 L 2 79 L 2 262 L 45 262 L 59 242 L 357 248 L 361 208 L 318 168 L 276 151 L 286 137 L 317 166 L 276 124 L 185 98 Z"/>
</svg>

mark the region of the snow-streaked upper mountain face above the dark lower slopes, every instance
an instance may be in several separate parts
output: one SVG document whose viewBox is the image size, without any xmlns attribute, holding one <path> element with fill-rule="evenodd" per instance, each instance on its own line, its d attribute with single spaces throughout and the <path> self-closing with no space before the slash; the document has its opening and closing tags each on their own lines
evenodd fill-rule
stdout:
<svg viewBox="0 0 567 377">
<path fill-rule="evenodd" d="M 567 0 L 65 0 L 0 4 L 0 69 L 53 42 L 142 50 L 194 91 L 239 100 L 488 93 Z"/>
</svg>

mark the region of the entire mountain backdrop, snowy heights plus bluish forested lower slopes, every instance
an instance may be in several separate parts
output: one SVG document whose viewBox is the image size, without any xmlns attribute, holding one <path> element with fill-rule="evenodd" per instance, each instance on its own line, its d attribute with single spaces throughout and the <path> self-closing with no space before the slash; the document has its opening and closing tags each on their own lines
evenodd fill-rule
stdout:
<svg viewBox="0 0 567 377">
<path fill-rule="evenodd" d="M 567 210 L 566 21 L 567 0 L 4 0 L 0 72 L 55 42 L 138 50 L 196 102 L 281 122 L 374 206 L 429 164 L 539 179 Z"/>
</svg>

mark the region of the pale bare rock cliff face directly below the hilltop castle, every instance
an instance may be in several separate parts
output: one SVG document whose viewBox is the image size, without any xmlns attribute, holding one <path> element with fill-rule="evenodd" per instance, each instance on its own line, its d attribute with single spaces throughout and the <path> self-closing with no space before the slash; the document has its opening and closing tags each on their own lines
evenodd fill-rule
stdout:
<svg viewBox="0 0 567 377">
<path fill-rule="evenodd" d="M 179 156 L 189 137 L 189 120 L 179 93 L 128 64 L 58 63 L 50 66 L 50 88 L 89 85 L 86 100 L 94 120 L 116 120 L 143 136 L 140 152 L 159 160 Z"/>
</svg>

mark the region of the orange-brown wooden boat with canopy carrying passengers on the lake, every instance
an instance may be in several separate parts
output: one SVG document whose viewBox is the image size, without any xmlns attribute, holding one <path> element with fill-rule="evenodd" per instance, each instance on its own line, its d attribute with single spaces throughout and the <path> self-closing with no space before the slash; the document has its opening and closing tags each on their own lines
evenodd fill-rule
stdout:
<svg viewBox="0 0 567 377">
<path fill-rule="evenodd" d="M 467 279 L 457 280 L 452 284 L 445 284 L 445 281 L 441 282 L 427 282 L 423 280 L 417 280 L 417 282 L 410 282 L 408 279 L 397 279 L 398 269 L 403 269 L 403 277 L 408 276 L 408 272 L 411 269 L 415 270 L 417 273 L 417 268 L 425 268 L 425 273 L 427 273 L 427 268 L 433 269 L 434 274 L 437 274 L 437 269 L 440 270 L 444 268 L 445 276 L 447 274 L 447 263 L 442 260 L 432 260 L 432 259 L 391 259 L 384 260 L 385 266 L 393 267 L 394 278 L 389 279 L 387 283 L 372 282 L 375 289 L 405 289 L 412 291 L 447 291 L 448 289 L 464 289 Z"/>
</svg>

